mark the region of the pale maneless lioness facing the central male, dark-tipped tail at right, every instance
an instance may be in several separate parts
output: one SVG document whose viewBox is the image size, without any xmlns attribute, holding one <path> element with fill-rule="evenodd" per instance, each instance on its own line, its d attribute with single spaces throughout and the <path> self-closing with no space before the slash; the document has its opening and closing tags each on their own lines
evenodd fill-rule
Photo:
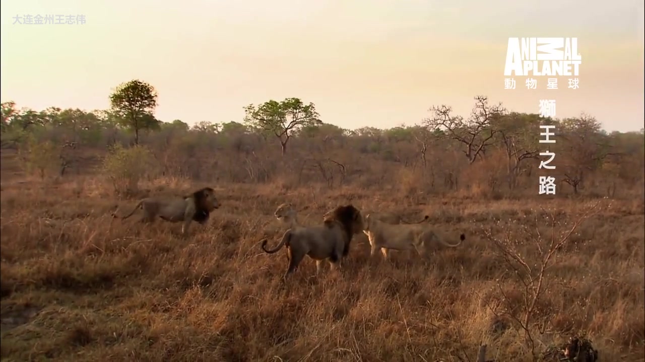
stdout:
<svg viewBox="0 0 645 362">
<path fill-rule="evenodd" d="M 388 224 L 372 214 L 365 216 L 364 230 L 372 245 L 371 256 L 381 249 L 383 258 L 388 260 L 389 250 L 412 250 L 415 249 L 420 256 L 426 257 L 432 245 L 441 244 L 447 247 L 458 247 L 466 235 L 459 236 L 459 242 L 455 244 L 442 240 L 439 234 L 435 233 L 427 224 Z"/>
</svg>

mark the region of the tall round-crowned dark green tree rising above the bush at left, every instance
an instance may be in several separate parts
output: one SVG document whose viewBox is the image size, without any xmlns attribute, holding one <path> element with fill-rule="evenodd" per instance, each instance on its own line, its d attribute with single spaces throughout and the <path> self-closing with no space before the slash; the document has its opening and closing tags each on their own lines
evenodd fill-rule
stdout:
<svg viewBox="0 0 645 362">
<path fill-rule="evenodd" d="M 159 128 L 159 121 L 152 115 L 157 107 L 157 91 L 146 82 L 134 79 L 120 84 L 110 95 L 110 104 L 119 122 L 134 131 L 135 144 L 139 144 L 141 129 Z"/>
</svg>

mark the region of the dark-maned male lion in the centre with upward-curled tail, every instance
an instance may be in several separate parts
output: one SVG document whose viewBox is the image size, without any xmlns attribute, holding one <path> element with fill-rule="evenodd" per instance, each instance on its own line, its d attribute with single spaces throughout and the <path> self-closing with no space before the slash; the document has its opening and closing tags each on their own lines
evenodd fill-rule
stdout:
<svg viewBox="0 0 645 362">
<path fill-rule="evenodd" d="M 353 205 L 344 205 L 336 207 L 323 225 L 287 230 L 281 242 L 271 250 L 266 249 L 268 241 L 262 240 L 262 249 L 267 254 L 273 254 L 282 247 L 287 248 L 289 267 L 284 279 L 297 269 L 306 255 L 316 261 L 316 274 L 321 271 L 324 260 L 330 262 L 332 271 L 337 271 L 341 259 L 349 254 L 353 235 L 361 233 L 362 229 L 361 211 Z"/>
</svg>

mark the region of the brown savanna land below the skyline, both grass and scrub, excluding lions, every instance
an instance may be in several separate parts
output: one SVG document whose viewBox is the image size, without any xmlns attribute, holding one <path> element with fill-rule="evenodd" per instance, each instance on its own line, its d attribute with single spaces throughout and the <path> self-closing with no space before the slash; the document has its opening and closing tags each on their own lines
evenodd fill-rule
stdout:
<svg viewBox="0 0 645 362">
<path fill-rule="evenodd" d="M 644 361 L 643 138 L 589 122 L 565 125 L 579 147 L 559 141 L 555 175 L 570 182 L 555 196 L 537 195 L 544 170 L 535 151 L 519 157 L 519 128 L 495 128 L 486 154 L 469 156 L 425 128 L 323 124 L 281 148 L 243 124 L 175 122 L 106 151 L 132 133 L 45 124 L 0 154 L 3 361 L 476 361 L 482 344 L 489 360 L 531 361 L 573 336 L 600 361 Z M 180 224 L 111 216 L 203 186 L 221 207 L 185 238 Z M 357 234 L 341 272 L 316 276 L 306 258 L 284 283 L 286 252 L 259 245 L 286 230 L 273 216 L 283 202 L 305 225 L 351 203 L 427 214 L 466 240 L 385 262 Z"/>
</svg>

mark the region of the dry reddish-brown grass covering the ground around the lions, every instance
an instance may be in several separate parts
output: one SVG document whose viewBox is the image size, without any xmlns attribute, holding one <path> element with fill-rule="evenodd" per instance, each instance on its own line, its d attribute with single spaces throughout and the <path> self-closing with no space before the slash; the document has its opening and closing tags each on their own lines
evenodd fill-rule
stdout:
<svg viewBox="0 0 645 362">
<path fill-rule="evenodd" d="M 519 232 L 546 201 L 419 205 L 357 188 L 276 195 L 273 186 L 218 185 L 221 209 L 183 239 L 177 224 L 112 220 L 117 204 L 133 203 L 104 190 L 91 178 L 3 182 L 3 361 L 474 361 L 480 343 L 498 361 L 529 358 L 513 323 L 487 307 L 517 307 L 522 293 L 519 282 L 505 281 L 501 300 L 495 280 L 508 268 L 484 231 L 503 236 L 501 220 Z M 352 202 L 429 214 L 441 231 L 468 239 L 427 262 L 393 252 L 388 264 L 369 260 L 359 236 L 342 274 L 327 267 L 315 277 L 307 259 L 284 285 L 282 252 L 263 254 L 258 243 L 275 245 L 283 233 L 273 218 L 282 202 L 301 209 L 303 224 Z M 548 205 L 568 220 L 582 204 Z M 585 334 L 602 361 L 644 360 L 644 227 L 642 203 L 618 200 L 583 223 L 549 271 L 535 317 L 549 322 L 536 334 L 539 348 Z M 519 247 L 529 260 L 531 250 Z"/>
</svg>

